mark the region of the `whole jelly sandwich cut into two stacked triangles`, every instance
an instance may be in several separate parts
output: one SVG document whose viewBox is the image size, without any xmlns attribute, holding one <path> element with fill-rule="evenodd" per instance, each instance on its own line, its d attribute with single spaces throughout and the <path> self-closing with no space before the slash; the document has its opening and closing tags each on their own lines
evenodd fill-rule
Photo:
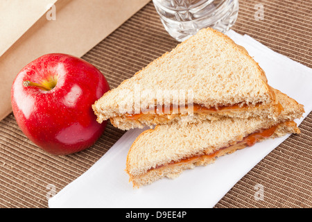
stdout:
<svg viewBox="0 0 312 222">
<path fill-rule="evenodd" d="M 294 119 L 304 112 L 268 85 L 243 47 L 212 28 L 178 44 L 92 108 L 99 123 L 152 128 L 128 152 L 125 171 L 134 187 L 175 178 L 263 139 L 300 133 Z"/>
</svg>

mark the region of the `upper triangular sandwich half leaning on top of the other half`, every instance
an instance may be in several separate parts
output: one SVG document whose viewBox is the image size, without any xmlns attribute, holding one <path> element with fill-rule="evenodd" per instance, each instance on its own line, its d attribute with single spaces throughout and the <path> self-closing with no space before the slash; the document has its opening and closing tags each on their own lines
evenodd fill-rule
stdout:
<svg viewBox="0 0 312 222">
<path fill-rule="evenodd" d="M 181 104 L 216 110 L 196 114 L 194 122 L 224 115 L 249 117 L 251 112 L 270 118 L 279 114 L 275 94 L 258 63 L 242 46 L 212 28 L 200 30 L 164 53 L 106 92 L 92 108 L 99 123 L 110 119 L 114 126 L 128 130 L 180 121 L 180 114 L 141 114 L 146 108 L 155 114 L 157 107 Z"/>
</svg>

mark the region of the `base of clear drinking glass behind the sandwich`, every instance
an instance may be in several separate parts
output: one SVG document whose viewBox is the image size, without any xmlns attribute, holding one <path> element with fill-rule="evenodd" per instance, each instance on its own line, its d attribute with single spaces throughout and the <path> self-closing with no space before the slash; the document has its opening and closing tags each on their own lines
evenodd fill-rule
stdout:
<svg viewBox="0 0 312 222">
<path fill-rule="evenodd" d="M 182 42 L 201 28 L 228 31 L 239 14 L 239 0 L 153 0 L 166 31 Z"/>
</svg>

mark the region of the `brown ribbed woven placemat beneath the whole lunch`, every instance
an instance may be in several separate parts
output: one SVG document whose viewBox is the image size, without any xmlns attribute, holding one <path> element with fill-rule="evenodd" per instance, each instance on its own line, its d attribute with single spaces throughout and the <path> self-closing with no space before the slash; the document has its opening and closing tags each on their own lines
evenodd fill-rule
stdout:
<svg viewBox="0 0 312 222">
<path fill-rule="evenodd" d="M 255 19 L 257 3 L 263 20 Z M 312 67 L 312 1 L 240 1 L 234 31 L 248 34 L 270 49 Z M 83 59 L 98 67 L 110 86 L 171 50 L 177 42 L 164 31 L 150 2 Z M 295 75 L 295 74 L 294 74 Z M 246 174 L 215 207 L 312 207 L 312 114 Z M 125 133 L 108 124 L 91 148 L 68 156 L 41 151 L 19 130 L 10 114 L 0 122 L 0 207 L 48 207 L 51 187 L 60 191 L 78 178 Z M 263 187 L 263 198 L 255 186 Z"/>
</svg>

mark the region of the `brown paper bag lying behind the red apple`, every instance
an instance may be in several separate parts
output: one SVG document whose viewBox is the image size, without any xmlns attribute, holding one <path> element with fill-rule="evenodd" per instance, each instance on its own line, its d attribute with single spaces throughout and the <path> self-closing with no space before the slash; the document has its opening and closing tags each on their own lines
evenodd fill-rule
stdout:
<svg viewBox="0 0 312 222">
<path fill-rule="evenodd" d="M 6 0 L 0 6 L 0 36 L 6 35 L 0 48 L 0 120 L 12 112 L 10 88 L 25 65 L 46 53 L 83 56 L 148 1 Z"/>
</svg>

